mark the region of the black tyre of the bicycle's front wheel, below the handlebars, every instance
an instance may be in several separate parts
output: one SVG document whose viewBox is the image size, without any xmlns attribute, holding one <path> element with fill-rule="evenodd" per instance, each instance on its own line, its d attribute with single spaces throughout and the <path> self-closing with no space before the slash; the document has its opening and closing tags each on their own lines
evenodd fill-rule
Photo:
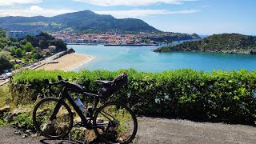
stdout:
<svg viewBox="0 0 256 144">
<path fill-rule="evenodd" d="M 42 130 L 42 126 L 39 125 L 39 120 L 40 118 L 44 118 L 44 119 L 47 119 L 45 118 L 46 117 L 46 114 L 41 114 L 40 116 L 37 115 L 39 114 L 39 112 L 41 113 L 46 113 L 45 111 L 41 110 L 40 109 L 38 110 L 39 106 L 42 106 L 42 104 L 44 102 L 46 102 L 46 104 L 50 104 L 50 102 L 58 102 L 59 99 L 58 98 L 52 98 L 52 97 L 49 97 L 49 98 L 43 98 L 41 101 L 39 101 L 35 106 L 34 106 L 34 110 L 33 110 L 33 123 L 34 123 L 34 127 L 36 128 L 36 130 L 38 130 L 39 134 L 42 134 L 43 136 L 45 136 L 46 138 L 50 138 L 50 139 L 60 139 L 60 138 L 65 138 L 69 133 L 70 133 L 70 130 L 72 129 L 73 127 L 73 123 L 74 123 L 74 118 L 73 118 L 73 113 L 72 111 L 70 110 L 70 107 L 66 104 L 66 102 L 62 102 L 62 106 L 64 106 L 66 108 L 66 111 L 68 112 L 68 114 L 61 114 L 60 116 L 63 116 L 63 118 L 65 116 L 69 117 L 70 118 L 70 123 L 68 125 L 68 128 L 66 128 L 65 130 L 63 130 L 62 128 L 59 128 L 57 126 L 54 126 L 54 130 L 62 130 L 62 134 L 60 135 L 54 135 L 54 134 L 46 134 L 46 131 L 45 130 Z M 61 107 L 62 107 L 61 106 Z M 55 108 L 55 106 L 54 106 Z M 61 108 L 60 108 L 61 109 Z M 62 109 L 63 111 L 63 109 Z M 37 113 L 38 112 L 38 113 Z M 61 112 L 60 112 L 61 113 Z M 51 114 L 50 114 L 51 115 Z M 58 114 L 56 114 L 58 115 Z M 45 116 L 45 117 L 44 117 Z M 56 116 L 57 117 L 57 116 Z M 66 117 L 65 117 L 66 118 Z M 65 119 L 64 118 L 64 119 Z M 48 118 L 50 119 L 50 118 Z M 57 119 L 57 118 L 56 118 Z M 46 122 L 47 123 L 47 122 Z M 56 122 L 57 123 L 57 122 Z M 46 124 L 47 125 L 47 124 Z M 66 125 L 64 125 L 66 126 Z M 57 127 L 57 128 L 56 128 Z M 42 128 L 42 129 L 41 129 Z M 58 129 L 59 128 L 59 129 Z M 46 128 L 47 129 L 47 128 Z M 54 131 L 55 134 L 57 134 L 58 132 Z"/>
</svg>

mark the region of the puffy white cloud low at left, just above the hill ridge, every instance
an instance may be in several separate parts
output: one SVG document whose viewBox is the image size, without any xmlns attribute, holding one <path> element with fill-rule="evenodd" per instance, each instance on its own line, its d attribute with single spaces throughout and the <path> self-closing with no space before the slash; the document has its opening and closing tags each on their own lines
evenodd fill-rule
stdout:
<svg viewBox="0 0 256 144">
<path fill-rule="evenodd" d="M 26 17 L 32 17 L 32 16 L 46 16 L 51 17 L 58 14 L 66 14 L 74 12 L 74 10 L 68 10 L 68 9 L 44 9 L 40 6 L 30 6 L 29 8 L 22 10 L 22 9 L 8 9 L 8 10 L 0 10 L 0 17 L 6 17 L 6 16 L 26 16 Z"/>
</svg>

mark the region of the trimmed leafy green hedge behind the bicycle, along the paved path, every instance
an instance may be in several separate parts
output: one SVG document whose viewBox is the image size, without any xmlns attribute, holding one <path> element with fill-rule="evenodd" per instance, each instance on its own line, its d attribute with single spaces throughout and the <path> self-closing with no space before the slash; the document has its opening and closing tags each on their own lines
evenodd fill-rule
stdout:
<svg viewBox="0 0 256 144">
<path fill-rule="evenodd" d="M 96 79 L 112 80 L 124 70 L 82 70 L 79 73 L 24 70 L 13 79 L 14 91 L 20 84 L 42 89 L 44 78 L 57 81 L 57 75 L 69 78 L 97 94 Z M 166 118 L 188 118 L 199 121 L 235 122 L 255 125 L 256 71 L 170 70 L 143 73 L 126 70 L 128 85 L 108 100 L 126 102 L 137 114 Z M 18 97 L 18 96 L 16 96 Z"/>
</svg>

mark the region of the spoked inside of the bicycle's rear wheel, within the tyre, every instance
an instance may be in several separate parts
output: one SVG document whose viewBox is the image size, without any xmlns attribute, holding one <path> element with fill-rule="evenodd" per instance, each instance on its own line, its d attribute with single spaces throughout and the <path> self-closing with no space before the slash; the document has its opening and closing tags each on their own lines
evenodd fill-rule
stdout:
<svg viewBox="0 0 256 144">
<path fill-rule="evenodd" d="M 98 134 L 110 142 L 124 142 L 134 130 L 132 115 L 122 106 L 104 107 L 97 116 Z"/>
</svg>

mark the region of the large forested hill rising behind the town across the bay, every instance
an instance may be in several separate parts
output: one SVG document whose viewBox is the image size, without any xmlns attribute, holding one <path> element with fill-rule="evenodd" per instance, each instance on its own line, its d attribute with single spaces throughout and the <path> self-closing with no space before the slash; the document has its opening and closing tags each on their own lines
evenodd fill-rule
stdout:
<svg viewBox="0 0 256 144">
<path fill-rule="evenodd" d="M 140 19 L 118 19 L 111 15 L 95 14 L 90 10 L 61 14 L 54 17 L 2 17 L 0 26 L 6 30 L 89 30 L 122 33 L 161 32 Z"/>
</svg>

